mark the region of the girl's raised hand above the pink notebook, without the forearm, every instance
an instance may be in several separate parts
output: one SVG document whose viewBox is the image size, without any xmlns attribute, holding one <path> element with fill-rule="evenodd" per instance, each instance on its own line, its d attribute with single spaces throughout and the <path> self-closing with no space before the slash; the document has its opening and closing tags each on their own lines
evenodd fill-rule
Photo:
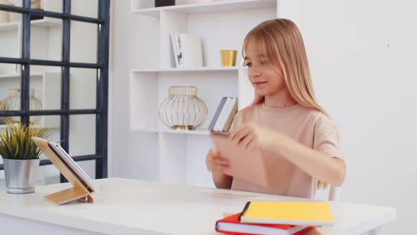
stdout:
<svg viewBox="0 0 417 235">
<path fill-rule="evenodd" d="M 247 149 L 264 149 L 269 144 L 279 141 L 280 134 L 260 127 L 252 122 L 245 123 L 235 128 L 229 134 L 229 138 L 238 145 Z"/>
</svg>

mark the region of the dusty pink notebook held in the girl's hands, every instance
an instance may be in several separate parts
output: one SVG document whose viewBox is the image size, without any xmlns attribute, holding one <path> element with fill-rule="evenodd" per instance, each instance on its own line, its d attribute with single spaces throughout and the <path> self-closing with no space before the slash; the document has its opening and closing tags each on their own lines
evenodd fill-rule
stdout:
<svg viewBox="0 0 417 235">
<path fill-rule="evenodd" d="M 230 167 L 225 170 L 226 174 L 264 187 L 269 186 L 264 158 L 260 151 L 238 146 L 225 134 L 211 132 L 211 139 L 219 154 L 230 161 Z"/>
</svg>

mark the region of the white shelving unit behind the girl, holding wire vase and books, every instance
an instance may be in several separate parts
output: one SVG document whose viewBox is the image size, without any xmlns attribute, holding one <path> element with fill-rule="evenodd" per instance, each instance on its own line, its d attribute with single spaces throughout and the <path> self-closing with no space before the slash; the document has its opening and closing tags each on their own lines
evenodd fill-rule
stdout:
<svg viewBox="0 0 417 235">
<path fill-rule="evenodd" d="M 178 1 L 177 1 L 178 2 Z M 278 1 L 231 0 L 155 8 L 153 1 L 132 0 L 131 13 L 155 18 L 146 35 L 158 34 L 154 45 L 159 68 L 131 68 L 130 130 L 149 144 L 137 149 L 149 162 L 158 165 L 158 180 L 212 187 L 205 156 L 211 144 L 207 127 L 223 96 L 239 99 L 239 108 L 253 100 L 247 69 L 240 67 L 240 51 L 245 35 L 262 21 L 278 16 Z M 199 35 L 203 44 L 204 67 L 177 69 L 173 60 L 170 32 Z M 151 39 L 155 40 L 155 38 Z M 141 42 L 138 42 L 141 45 Z M 148 47 L 149 45 L 146 45 Z M 237 50 L 237 67 L 220 67 L 220 51 Z M 158 119 L 158 107 L 168 97 L 169 86 L 196 86 L 197 96 L 206 103 L 209 115 L 195 131 L 169 130 Z"/>
</svg>

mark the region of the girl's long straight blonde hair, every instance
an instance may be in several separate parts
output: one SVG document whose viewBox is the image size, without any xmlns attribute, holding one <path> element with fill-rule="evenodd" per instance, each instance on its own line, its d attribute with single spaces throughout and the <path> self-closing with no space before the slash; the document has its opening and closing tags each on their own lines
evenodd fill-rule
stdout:
<svg viewBox="0 0 417 235">
<path fill-rule="evenodd" d="M 297 103 L 329 116 L 316 101 L 303 37 L 293 21 L 277 18 L 264 21 L 250 30 L 243 42 L 243 57 L 245 57 L 245 48 L 249 41 L 255 42 L 258 50 L 264 52 L 272 69 L 276 69 L 278 73 L 281 73 L 282 69 L 284 84 Z M 264 96 L 255 95 L 252 105 L 263 101 Z M 317 188 L 326 187 L 327 183 L 317 181 Z"/>
</svg>

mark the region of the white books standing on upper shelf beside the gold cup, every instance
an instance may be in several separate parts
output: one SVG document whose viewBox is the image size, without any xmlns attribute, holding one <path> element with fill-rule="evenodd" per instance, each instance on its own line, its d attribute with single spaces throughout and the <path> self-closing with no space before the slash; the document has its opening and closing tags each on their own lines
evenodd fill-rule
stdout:
<svg viewBox="0 0 417 235">
<path fill-rule="evenodd" d="M 203 67 L 203 50 L 198 35 L 171 32 L 170 38 L 177 68 Z"/>
</svg>

